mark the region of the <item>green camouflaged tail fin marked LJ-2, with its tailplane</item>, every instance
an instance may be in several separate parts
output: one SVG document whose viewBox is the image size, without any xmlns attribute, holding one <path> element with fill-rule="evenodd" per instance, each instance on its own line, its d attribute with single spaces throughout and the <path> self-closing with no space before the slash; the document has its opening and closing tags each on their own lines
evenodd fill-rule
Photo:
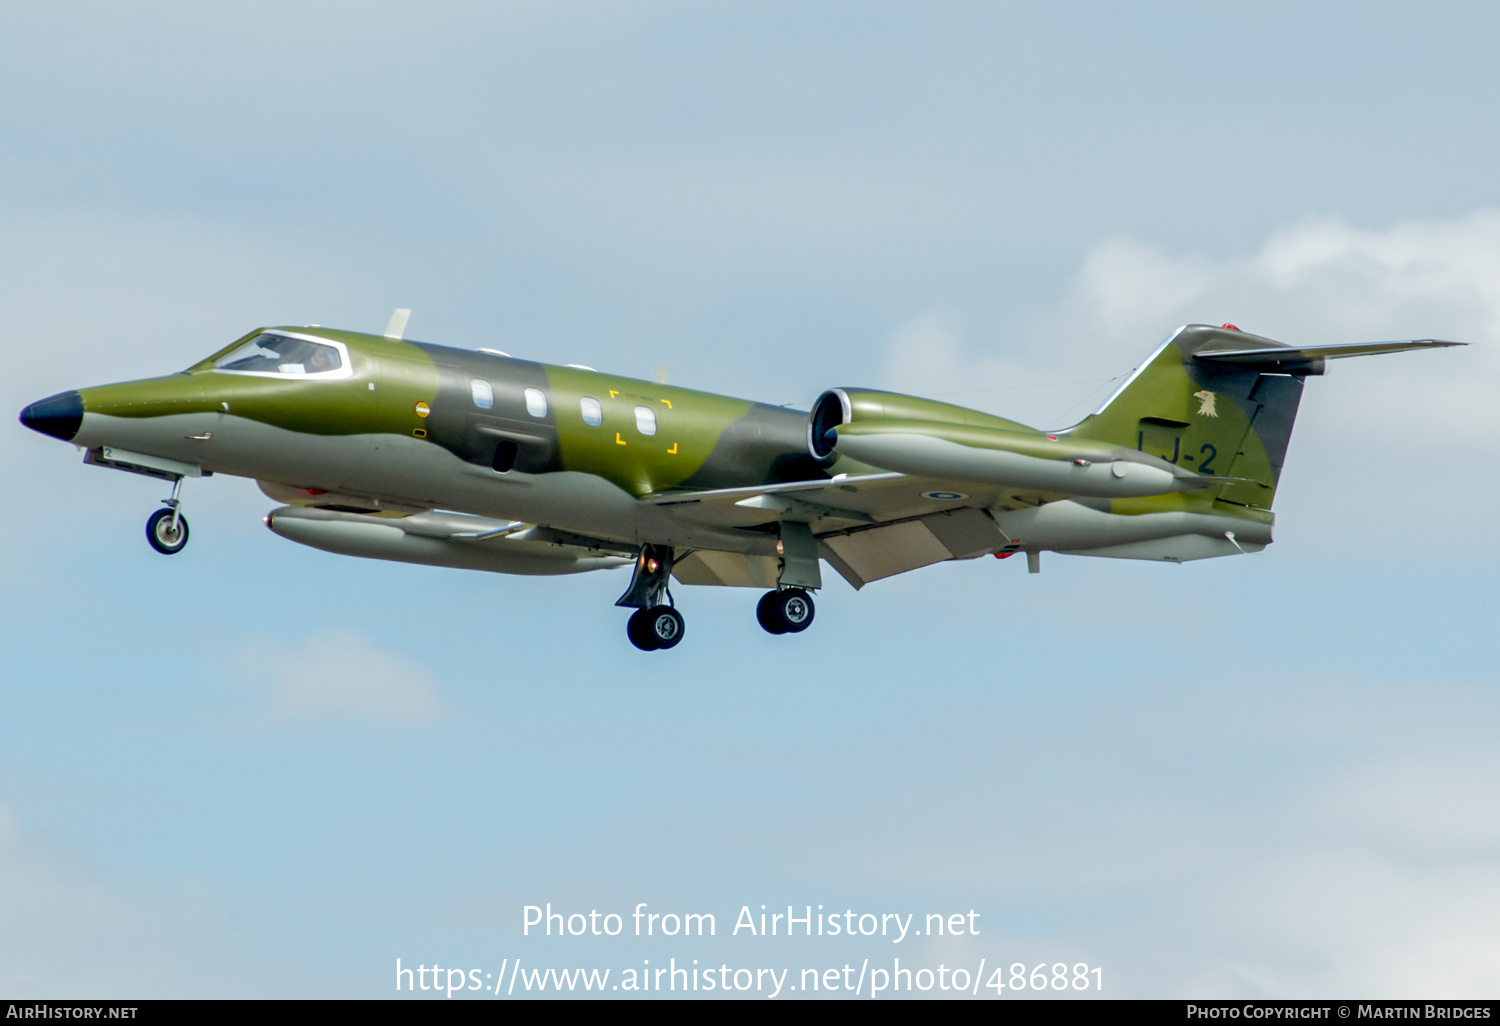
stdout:
<svg viewBox="0 0 1500 1026">
<path fill-rule="evenodd" d="M 1160 456 L 1226 482 L 1215 498 L 1270 508 L 1308 375 L 1340 357 L 1426 350 L 1424 339 L 1294 348 L 1232 324 L 1188 324 L 1065 435 Z"/>
</svg>

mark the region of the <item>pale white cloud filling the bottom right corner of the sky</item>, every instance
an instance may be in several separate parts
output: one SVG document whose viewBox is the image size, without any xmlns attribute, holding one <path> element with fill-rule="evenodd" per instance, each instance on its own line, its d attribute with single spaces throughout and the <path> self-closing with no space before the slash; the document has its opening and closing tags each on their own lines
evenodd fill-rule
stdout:
<svg viewBox="0 0 1500 1026">
<path fill-rule="evenodd" d="M 1284 728 L 1278 762 L 1302 766 L 1290 786 L 1269 789 L 1258 808 L 1227 810 L 1227 819 L 1198 808 L 1215 843 L 1160 934 L 1192 938 L 1215 956 L 1190 960 L 1197 970 L 1176 992 L 1492 994 L 1500 756 L 1488 688 L 1362 681 L 1311 698 L 1320 687 L 1270 684 L 1268 708 L 1287 724 L 1338 716 L 1347 736 Z M 1329 765 L 1314 754 L 1346 746 L 1358 750 Z M 1196 796 L 1204 800 L 1212 792 Z"/>
</svg>

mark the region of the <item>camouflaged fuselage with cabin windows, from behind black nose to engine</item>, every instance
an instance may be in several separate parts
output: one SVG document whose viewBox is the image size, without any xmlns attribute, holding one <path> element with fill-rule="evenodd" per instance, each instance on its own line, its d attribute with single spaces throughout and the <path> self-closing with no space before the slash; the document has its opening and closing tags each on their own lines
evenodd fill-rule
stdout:
<svg viewBox="0 0 1500 1026">
<path fill-rule="evenodd" d="M 346 374 L 225 374 L 216 354 L 182 374 L 80 390 L 68 441 L 327 494 L 351 510 L 459 510 L 741 550 L 771 550 L 774 538 L 684 525 L 638 500 L 828 476 L 807 454 L 806 412 L 490 352 L 274 330 L 342 344 Z"/>
</svg>

